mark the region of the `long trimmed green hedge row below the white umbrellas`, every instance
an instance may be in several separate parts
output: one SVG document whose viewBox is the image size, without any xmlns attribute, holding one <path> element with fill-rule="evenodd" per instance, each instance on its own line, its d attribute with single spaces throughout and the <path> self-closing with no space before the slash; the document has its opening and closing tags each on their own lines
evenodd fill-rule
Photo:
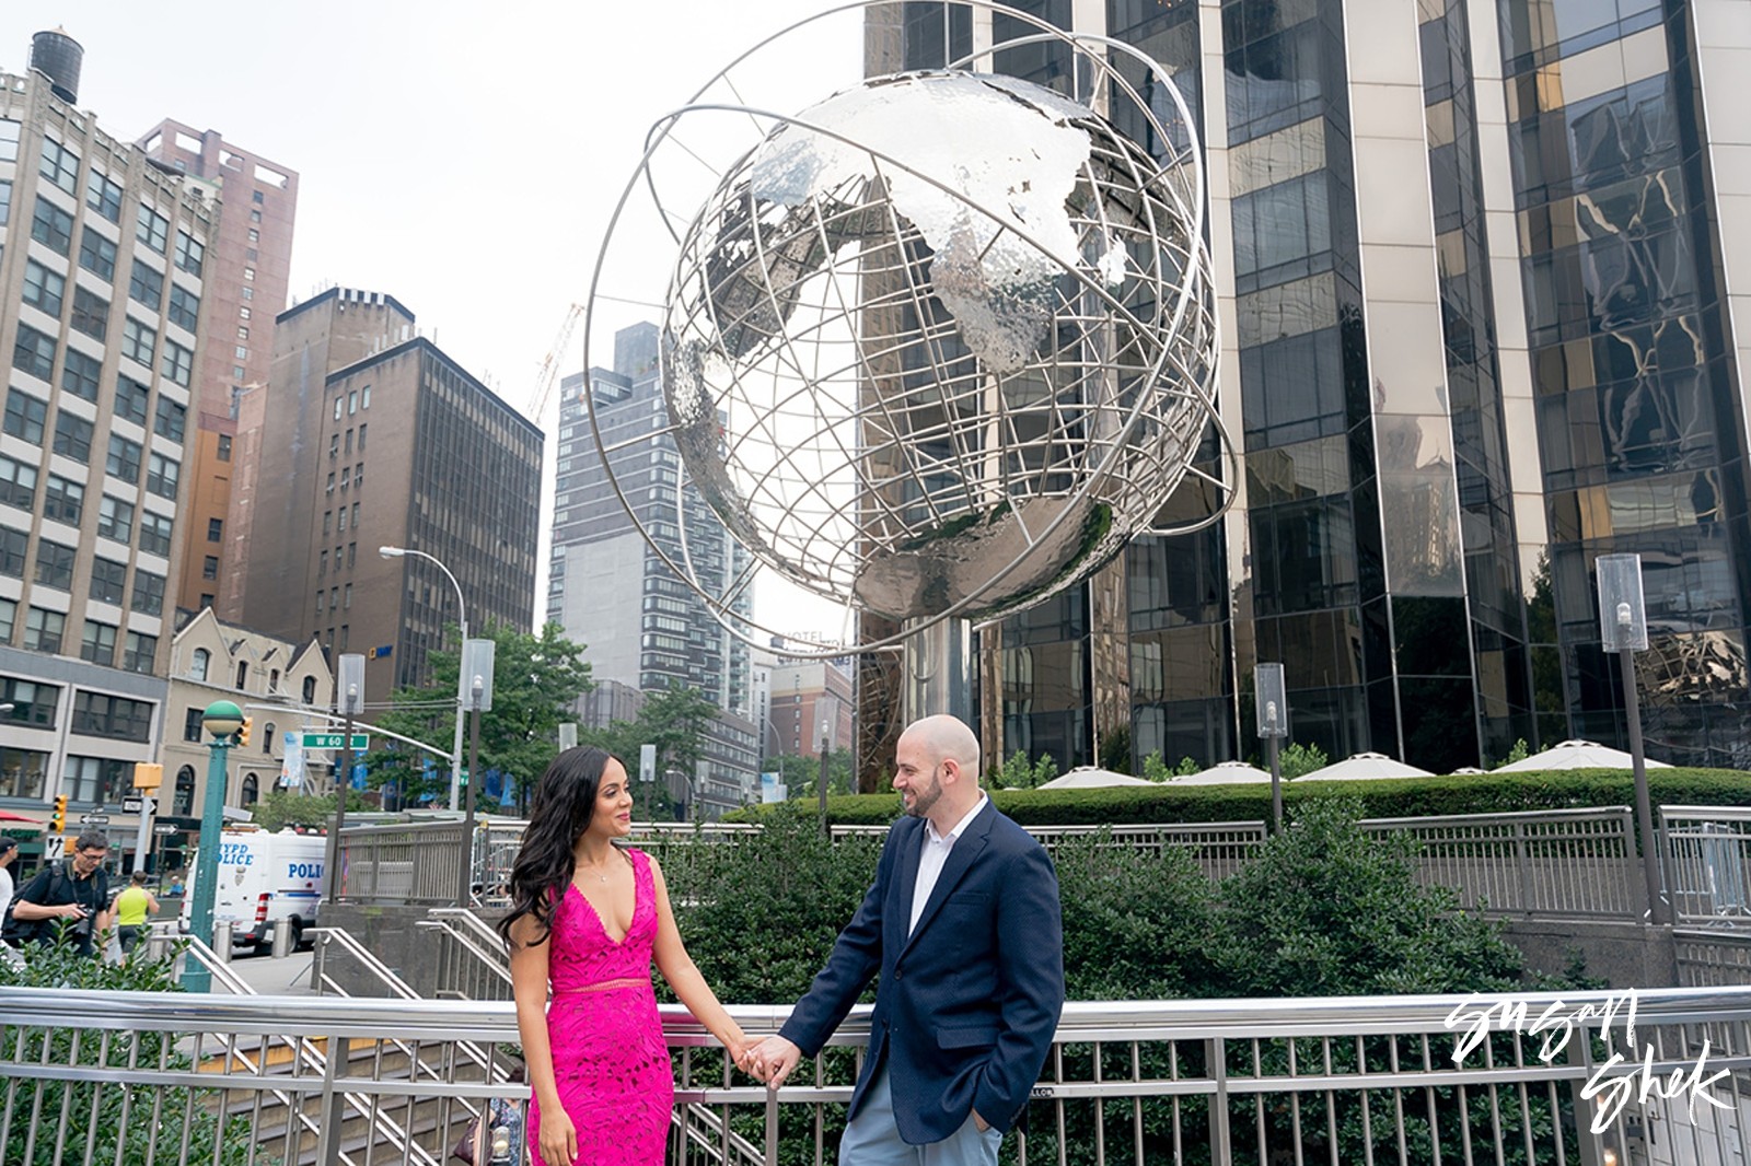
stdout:
<svg viewBox="0 0 1751 1166">
<path fill-rule="evenodd" d="M 1751 805 L 1751 774 L 1737 769 L 1651 769 L 1655 805 Z M 1560 769 L 1532 774 L 1473 774 L 1376 781 L 1285 781 L 1283 812 L 1306 798 L 1361 798 L 1366 818 L 1504 814 L 1513 811 L 1634 805 L 1627 769 Z M 998 809 L 1024 826 L 1261 821 L 1271 814 L 1269 783 L 1238 786 L 1112 786 L 1105 790 L 996 790 Z M 795 805 L 795 804 L 793 804 Z M 814 804 L 800 809 L 812 812 Z M 770 807 L 742 814 L 756 819 Z M 835 825 L 886 825 L 898 818 L 891 793 L 826 800 Z"/>
</svg>

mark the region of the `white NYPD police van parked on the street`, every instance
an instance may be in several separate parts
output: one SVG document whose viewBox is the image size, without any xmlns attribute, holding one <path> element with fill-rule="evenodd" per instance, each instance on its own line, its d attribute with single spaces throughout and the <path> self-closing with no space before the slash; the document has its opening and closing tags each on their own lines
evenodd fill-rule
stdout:
<svg viewBox="0 0 1751 1166">
<path fill-rule="evenodd" d="M 327 839 L 298 833 L 291 826 L 268 833 L 254 826 L 228 826 L 219 835 L 219 886 L 214 893 L 214 926 L 231 924 L 233 947 L 266 947 L 273 942 L 275 919 L 292 921 L 292 944 L 315 926 L 322 900 L 322 861 Z M 200 870 L 200 851 L 191 863 Z M 194 910 L 194 874 L 182 896 L 182 930 Z"/>
</svg>

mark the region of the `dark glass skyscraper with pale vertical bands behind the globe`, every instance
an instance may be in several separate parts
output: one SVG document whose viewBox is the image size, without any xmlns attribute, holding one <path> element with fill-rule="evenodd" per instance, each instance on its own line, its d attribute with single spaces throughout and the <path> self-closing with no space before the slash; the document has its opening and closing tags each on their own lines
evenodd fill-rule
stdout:
<svg viewBox="0 0 1751 1166">
<path fill-rule="evenodd" d="M 1261 660 L 1285 665 L 1292 739 L 1334 756 L 1623 744 L 1593 560 L 1637 551 L 1649 753 L 1751 763 L 1746 5 L 1014 7 L 1143 49 L 1192 110 L 1243 473 L 1220 525 L 986 629 L 988 748 L 1245 756 Z M 1028 32 L 895 4 L 867 67 Z M 981 67 L 1072 88 L 1058 47 Z"/>
</svg>

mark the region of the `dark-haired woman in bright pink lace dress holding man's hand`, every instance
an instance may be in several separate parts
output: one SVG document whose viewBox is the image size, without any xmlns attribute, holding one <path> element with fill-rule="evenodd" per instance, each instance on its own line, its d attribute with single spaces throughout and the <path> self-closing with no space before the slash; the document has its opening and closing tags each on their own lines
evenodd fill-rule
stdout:
<svg viewBox="0 0 1751 1166">
<path fill-rule="evenodd" d="M 657 860 L 615 846 L 630 830 L 625 767 L 602 749 L 567 749 L 541 776 L 511 867 L 499 933 L 534 1092 L 536 1166 L 662 1166 L 674 1077 L 651 958 L 730 1056 L 746 1056 L 742 1029 L 681 944 Z"/>
</svg>

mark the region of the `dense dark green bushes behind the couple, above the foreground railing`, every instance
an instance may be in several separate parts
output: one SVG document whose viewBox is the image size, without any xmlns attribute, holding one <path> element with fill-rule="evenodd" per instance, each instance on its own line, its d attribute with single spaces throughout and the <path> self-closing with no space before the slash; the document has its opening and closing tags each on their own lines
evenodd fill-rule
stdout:
<svg viewBox="0 0 1751 1166">
<path fill-rule="evenodd" d="M 1147 791 L 1145 791 L 1147 793 Z M 847 802 L 851 798 L 837 798 Z M 830 804 L 832 805 L 832 804 Z M 1350 795 L 1296 802 L 1240 874 L 1187 851 L 1058 846 L 1072 1000 L 1485 991 L 1522 980 L 1501 926 L 1418 884 L 1413 842 L 1375 839 Z M 826 842 L 781 805 L 735 844 L 678 842 L 664 870 L 688 952 L 723 1000 L 790 1003 L 876 877 L 883 839 Z"/>
</svg>

